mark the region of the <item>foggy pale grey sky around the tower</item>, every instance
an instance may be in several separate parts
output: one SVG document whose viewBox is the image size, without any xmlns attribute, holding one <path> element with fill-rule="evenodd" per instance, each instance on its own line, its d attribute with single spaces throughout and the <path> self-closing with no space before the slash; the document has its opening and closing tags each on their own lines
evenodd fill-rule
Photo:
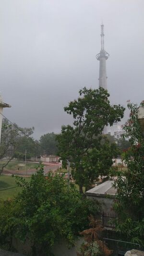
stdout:
<svg viewBox="0 0 144 256">
<path fill-rule="evenodd" d="M 63 107 L 98 88 L 102 20 L 111 103 L 144 100 L 144 0 L 0 0 L 3 114 L 35 138 L 72 123 Z"/>
</svg>

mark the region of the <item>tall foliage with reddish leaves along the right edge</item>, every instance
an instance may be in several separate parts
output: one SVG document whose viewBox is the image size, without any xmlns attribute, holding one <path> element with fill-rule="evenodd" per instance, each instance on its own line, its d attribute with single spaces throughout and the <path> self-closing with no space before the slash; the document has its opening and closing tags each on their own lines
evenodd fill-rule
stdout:
<svg viewBox="0 0 144 256">
<path fill-rule="evenodd" d="M 118 213 L 116 230 L 120 231 L 133 243 L 144 245 L 144 134 L 138 122 L 137 105 L 128 103 L 130 119 L 124 125 L 124 135 L 131 146 L 123 152 L 127 164 L 125 177 L 118 172 L 115 181 Z"/>
</svg>

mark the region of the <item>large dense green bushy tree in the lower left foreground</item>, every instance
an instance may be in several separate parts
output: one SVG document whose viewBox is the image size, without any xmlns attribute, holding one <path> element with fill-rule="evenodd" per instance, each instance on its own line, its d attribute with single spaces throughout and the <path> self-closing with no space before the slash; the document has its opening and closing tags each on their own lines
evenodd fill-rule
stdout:
<svg viewBox="0 0 144 256">
<path fill-rule="evenodd" d="M 49 255 L 54 242 L 74 238 L 88 225 L 87 216 L 100 210 L 96 201 L 84 199 L 58 174 L 44 176 L 43 168 L 30 182 L 17 177 L 23 191 L 14 200 L 0 205 L 0 245 L 12 246 L 12 238 L 32 244 L 32 255 Z"/>
</svg>

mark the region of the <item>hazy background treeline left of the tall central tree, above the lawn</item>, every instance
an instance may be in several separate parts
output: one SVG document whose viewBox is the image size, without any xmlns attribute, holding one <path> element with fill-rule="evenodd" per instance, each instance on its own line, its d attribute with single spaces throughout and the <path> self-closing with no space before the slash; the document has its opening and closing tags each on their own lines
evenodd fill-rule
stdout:
<svg viewBox="0 0 144 256">
<path fill-rule="evenodd" d="M 44 134 L 39 140 L 35 140 L 33 137 L 34 127 L 17 127 L 17 124 L 12 125 L 7 119 L 2 121 L 1 144 L 5 143 L 8 133 L 12 133 L 12 138 L 9 138 L 9 142 L 11 142 L 11 149 L 14 146 L 15 158 L 24 159 L 25 150 L 27 159 L 40 157 L 40 155 L 57 155 L 58 148 L 55 133 Z"/>
</svg>

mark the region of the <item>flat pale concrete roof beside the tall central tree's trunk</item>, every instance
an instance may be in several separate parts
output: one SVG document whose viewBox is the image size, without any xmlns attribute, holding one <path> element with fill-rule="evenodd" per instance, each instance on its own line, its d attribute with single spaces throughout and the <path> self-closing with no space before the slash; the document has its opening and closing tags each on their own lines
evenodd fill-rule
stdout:
<svg viewBox="0 0 144 256">
<path fill-rule="evenodd" d="M 96 187 L 85 192 L 86 195 L 91 196 L 106 196 L 111 195 L 111 197 L 115 197 L 116 189 L 113 187 L 113 181 L 107 181 L 97 185 Z"/>
</svg>

